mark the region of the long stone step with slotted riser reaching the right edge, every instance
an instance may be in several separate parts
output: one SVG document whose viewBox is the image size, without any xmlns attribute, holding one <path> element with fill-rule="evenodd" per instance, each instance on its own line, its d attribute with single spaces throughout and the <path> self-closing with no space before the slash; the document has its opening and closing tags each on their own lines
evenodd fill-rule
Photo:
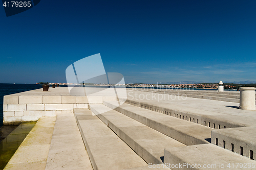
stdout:
<svg viewBox="0 0 256 170">
<path fill-rule="evenodd" d="M 188 120 L 189 122 L 199 123 L 201 125 L 211 127 L 214 129 L 223 128 L 238 128 L 255 125 L 255 118 L 242 117 L 239 115 L 230 115 L 220 112 L 201 110 L 193 107 L 184 107 L 173 103 L 157 102 L 154 100 L 140 100 L 140 99 L 121 99 L 119 101 L 125 102 L 134 106 L 153 110 L 159 113 L 178 117 L 180 119 Z"/>
</svg>

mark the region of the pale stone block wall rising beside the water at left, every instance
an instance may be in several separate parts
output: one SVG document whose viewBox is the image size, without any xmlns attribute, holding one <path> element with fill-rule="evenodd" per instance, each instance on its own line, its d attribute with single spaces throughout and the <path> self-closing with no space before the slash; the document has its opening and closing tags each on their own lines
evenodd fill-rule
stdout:
<svg viewBox="0 0 256 170">
<path fill-rule="evenodd" d="M 88 101 L 90 104 L 102 104 L 105 99 L 116 100 L 108 96 L 5 95 L 4 125 L 34 122 L 40 117 L 73 112 L 73 109 L 88 108 Z"/>
</svg>

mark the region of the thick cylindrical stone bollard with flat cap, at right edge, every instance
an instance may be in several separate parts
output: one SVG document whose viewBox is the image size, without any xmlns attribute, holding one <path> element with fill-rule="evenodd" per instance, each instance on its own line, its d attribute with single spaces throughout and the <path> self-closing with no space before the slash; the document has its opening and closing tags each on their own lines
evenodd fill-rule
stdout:
<svg viewBox="0 0 256 170">
<path fill-rule="evenodd" d="M 240 87 L 239 109 L 255 110 L 255 90 L 254 87 Z"/>
</svg>

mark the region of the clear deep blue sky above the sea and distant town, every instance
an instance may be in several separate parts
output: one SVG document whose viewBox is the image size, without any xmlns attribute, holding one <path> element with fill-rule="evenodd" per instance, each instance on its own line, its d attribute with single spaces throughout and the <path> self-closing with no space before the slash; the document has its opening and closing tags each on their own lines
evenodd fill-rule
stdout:
<svg viewBox="0 0 256 170">
<path fill-rule="evenodd" d="M 126 83 L 256 81 L 256 1 L 60 1 L 6 17 L 0 83 L 65 83 L 101 54 Z"/>
</svg>

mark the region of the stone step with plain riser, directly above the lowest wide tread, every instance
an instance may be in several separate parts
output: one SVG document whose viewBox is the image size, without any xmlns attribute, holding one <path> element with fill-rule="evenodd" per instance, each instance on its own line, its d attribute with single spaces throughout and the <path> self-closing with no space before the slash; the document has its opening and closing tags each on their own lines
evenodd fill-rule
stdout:
<svg viewBox="0 0 256 170">
<path fill-rule="evenodd" d="M 104 105 L 90 105 L 90 109 L 148 164 L 163 163 L 166 147 L 185 146 Z"/>
</svg>

